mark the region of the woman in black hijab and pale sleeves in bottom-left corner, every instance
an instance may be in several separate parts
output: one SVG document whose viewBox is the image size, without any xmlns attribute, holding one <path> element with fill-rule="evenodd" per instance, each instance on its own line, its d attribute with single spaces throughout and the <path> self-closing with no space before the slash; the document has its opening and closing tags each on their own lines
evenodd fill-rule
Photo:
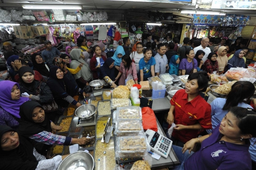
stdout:
<svg viewBox="0 0 256 170">
<path fill-rule="evenodd" d="M 13 142 L 14 141 L 14 142 Z M 7 125 L 0 125 L 0 170 L 57 170 L 68 155 L 47 159 Z"/>
</svg>

